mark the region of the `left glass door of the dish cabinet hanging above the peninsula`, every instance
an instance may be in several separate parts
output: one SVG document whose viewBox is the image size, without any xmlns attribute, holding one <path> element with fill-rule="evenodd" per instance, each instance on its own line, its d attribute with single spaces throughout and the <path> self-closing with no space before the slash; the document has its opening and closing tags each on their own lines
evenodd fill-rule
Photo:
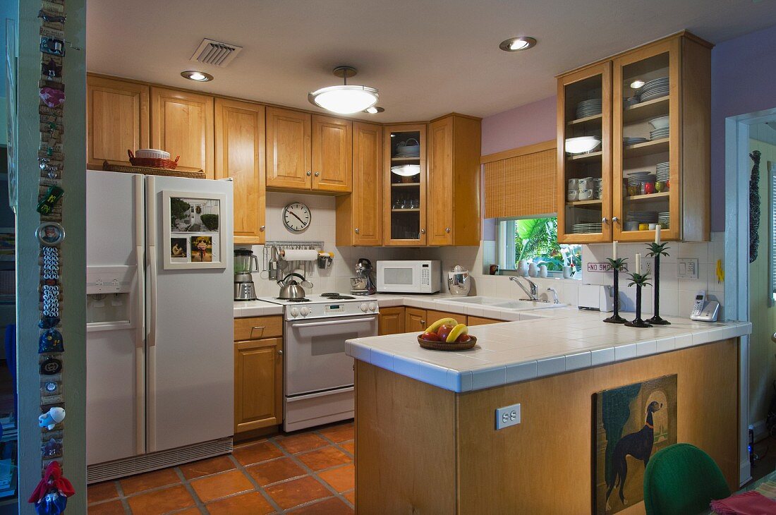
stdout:
<svg viewBox="0 0 776 515">
<path fill-rule="evenodd" d="M 558 81 L 558 241 L 611 240 L 611 63 Z"/>
</svg>

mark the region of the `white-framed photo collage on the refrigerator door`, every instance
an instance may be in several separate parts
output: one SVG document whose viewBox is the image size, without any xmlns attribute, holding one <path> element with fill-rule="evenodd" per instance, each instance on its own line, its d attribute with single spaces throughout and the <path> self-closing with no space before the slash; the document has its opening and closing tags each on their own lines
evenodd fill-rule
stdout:
<svg viewBox="0 0 776 515">
<path fill-rule="evenodd" d="M 226 268 L 221 224 L 226 196 L 162 192 L 165 270 Z"/>
</svg>

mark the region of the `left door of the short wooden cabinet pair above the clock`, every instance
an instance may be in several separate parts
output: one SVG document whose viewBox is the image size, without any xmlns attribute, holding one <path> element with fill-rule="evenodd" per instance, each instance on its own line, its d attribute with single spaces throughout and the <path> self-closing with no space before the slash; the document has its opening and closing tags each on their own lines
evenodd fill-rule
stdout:
<svg viewBox="0 0 776 515">
<path fill-rule="evenodd" d="M 312 187 L 311 132 L 307 112 L 267 108 L 267 186 Z"/>
</svg>

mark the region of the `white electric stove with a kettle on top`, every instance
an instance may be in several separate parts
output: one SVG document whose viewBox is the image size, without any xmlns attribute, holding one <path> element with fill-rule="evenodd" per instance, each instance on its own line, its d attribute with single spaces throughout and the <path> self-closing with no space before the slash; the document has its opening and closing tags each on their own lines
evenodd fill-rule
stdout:
<svg viewBox="0 0 776 515">
<path fill-rule="evenodd" d="M 284 306 L 283 430 L 353 417 L 353 358 L 345 340 L 377 336 L 374 297 L 327 294 L 260 300 Z"/>
</svg>

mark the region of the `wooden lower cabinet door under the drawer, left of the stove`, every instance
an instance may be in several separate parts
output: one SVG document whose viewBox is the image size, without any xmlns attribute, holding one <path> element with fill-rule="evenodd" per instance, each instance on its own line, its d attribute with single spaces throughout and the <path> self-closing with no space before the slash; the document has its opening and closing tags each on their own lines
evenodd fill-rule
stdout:
<svg viewBox="0 0 776 515">
<path fill-rule="evenodd" d="M 234 344 L 234 432 L 282 423 L 282 338 Z"/>
</svg>

